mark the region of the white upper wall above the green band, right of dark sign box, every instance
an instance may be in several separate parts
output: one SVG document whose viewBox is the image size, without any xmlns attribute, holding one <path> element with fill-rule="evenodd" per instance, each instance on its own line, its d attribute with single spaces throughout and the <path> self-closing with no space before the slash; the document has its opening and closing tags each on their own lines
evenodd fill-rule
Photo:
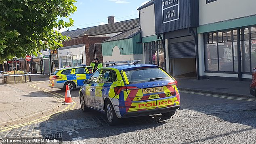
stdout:
<svg viewBox="0 0 256 144">
<path fill-rule="evenodd" d="M 199 25 L 256 14 L 256 0 L 199 0 Z"/>
</svg>

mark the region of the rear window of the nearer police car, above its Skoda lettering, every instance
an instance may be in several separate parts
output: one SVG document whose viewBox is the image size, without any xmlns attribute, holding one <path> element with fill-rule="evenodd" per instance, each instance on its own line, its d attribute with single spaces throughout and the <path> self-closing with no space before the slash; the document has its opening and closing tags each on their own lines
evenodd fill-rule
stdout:
<svg viewBox="0 0 256 144">
<path fill-rule="evenodd" d="M 151 68 L 151 69 L 137 69 L 132 71 L 125 71 L 128 81 L 130 83 L 141 83 L 148 82 L 153 78 L 162 78 L 157 80 L 169 79 L 170 76 L 164 73 L 159 68 Z"/>
</svg>

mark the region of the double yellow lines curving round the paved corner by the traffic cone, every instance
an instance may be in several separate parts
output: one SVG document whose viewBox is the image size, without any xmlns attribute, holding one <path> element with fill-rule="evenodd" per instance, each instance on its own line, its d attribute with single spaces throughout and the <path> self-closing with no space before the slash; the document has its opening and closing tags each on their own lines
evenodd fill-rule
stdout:
<svg viewBox="0 0 256 144">
<path fill-rule="evenodd" d="M 40 83 L 44 83 L 44 82 L 40 82 Z M 33 83 L 33 84 L 31 84 L 31 85 L 28 84 L 27 86 L 30 86 L 30 87 L 32 87 L 32 88 L 36 88 L 36 89 L 38 89 L 38 90 L 43 90 L 44 92 L 49 93 L 49 94 L 52 94 L 52 95 L 56 96 L 57 98 L 60 98 L 61 100 L 65 100 L 65 99 L 64 99 L 65 97 L 64 97 L 63 95 L 61 95 L 61 94 L 58 94 L 58 93 L 56 93 L 56 92 L 51 92 L 50 90 L 47 90 L 47 89 L 44 89 L 44 88 L 37 87 L 36 85 L 37 85 L 37 84 L 40 84 L 40 83 Z M 12 126 L 8 126 L 8 127 L 0 128 L 0 132 L 2 132 L 2 131 L 8 131 L 8 130 L 10 130 L 10 129 L 22 127 L 22 126 L 25 126 L 25 125 L 30 125 L 30 124 L 33 124 L 33 123 L 39 123 L 39 122 L 42 122 L 42 121 L 46 121 L 46 120 L 50 119 L 50 117 L 51 117 L 52 115 L 55 115 L 55 114 L 56 114 L 55 116 L 60 115 L 61 113 L 64 113 L 65 111 L 69 111 L 69 110 L 73 109 L 75 106 L 76 106 L 76 102 L 73 104 L 73 106 L 67 105 L 67 106 L 65 107 L 65 109 L 59 110 L 59 111 L 57 111 L 57 112 L 55 112 L 55 113 L 52 113 L 52 114 L 50 114 L 50 115 L 47 115 L 47 116 L 45 116 L 45 117 L 41 117 L 41 118 L 39 118 L 39 119 L 35 119 L 34 121 L 30 121 L 30 122 L 27 122 L 27 123 L 21 123 L 21 124 L 18 124 L 18 125 L 12 125 Z"/>
</svg>

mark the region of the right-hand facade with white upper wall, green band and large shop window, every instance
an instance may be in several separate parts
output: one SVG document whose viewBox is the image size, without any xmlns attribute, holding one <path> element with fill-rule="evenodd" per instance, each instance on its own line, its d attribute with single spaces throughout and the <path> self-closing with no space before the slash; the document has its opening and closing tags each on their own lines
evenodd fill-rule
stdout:
<svg viewBox="0 0 256 144">
<path fill-rule="evenodd" d="M 256 67 L 255 4 L 255 0 L 199 1 L 201 78 L 252 79 Z"/>
</svg>

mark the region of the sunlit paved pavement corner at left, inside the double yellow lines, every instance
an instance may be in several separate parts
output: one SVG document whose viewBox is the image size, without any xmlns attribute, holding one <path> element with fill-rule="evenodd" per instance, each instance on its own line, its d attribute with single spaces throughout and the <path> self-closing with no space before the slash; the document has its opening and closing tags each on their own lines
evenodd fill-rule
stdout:
<svg viewBox="0 0 256 144">
<path fill-rule="evenodd" d="M 31 87 L 42 83 L 45 81 L 0 83 L 0 125 L 18 123 L 59 109 L 61 99 Z"/>
</svg>

